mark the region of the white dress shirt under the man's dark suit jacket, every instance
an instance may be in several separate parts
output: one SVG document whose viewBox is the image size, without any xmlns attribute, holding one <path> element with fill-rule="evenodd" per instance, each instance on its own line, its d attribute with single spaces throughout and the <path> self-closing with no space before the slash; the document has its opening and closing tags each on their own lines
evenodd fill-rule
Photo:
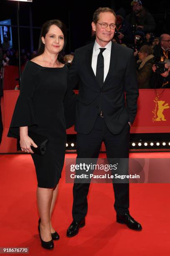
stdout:
<svg viewBox="0 0 170 256">
<path fill-rule="evenodd" d="M 105 47 L 101 47 L 95 41 L 93 52 L 92 52 L 92 70 L 93 70 L 94 74 L 96 75 L 97 56 L 100 53 L 100 48 L 106 48 L 105 51 L 103 51 L 103 53 L 102 53 L 102 55 L 104 57 L 104 81 L 105 81 L 105 78 L 107 77 L 107 73 L 109 71 L 111 47 L 112 47 L 111 41 Z"/>
</svg>

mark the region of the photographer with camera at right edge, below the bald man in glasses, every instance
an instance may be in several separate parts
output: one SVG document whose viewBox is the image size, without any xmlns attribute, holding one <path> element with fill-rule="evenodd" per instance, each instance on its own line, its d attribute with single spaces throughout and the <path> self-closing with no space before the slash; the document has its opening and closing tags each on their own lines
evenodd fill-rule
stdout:
<svg viewBox="0 0 170 256">
<path fill-rule="evenodd" d="M 170 60 L 165 59 L 162 63 L 154 64 L 152 69 L 150 88 L 170 88 Z"/>
</svg>

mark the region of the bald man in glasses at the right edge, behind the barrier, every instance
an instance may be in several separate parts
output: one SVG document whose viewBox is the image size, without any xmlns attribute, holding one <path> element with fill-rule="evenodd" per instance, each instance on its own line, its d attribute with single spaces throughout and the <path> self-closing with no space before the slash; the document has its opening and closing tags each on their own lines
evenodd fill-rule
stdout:
<svg viewBox="0 0 170 256">
<path fill-rule="evenodd" d="M 170 59 L 170 35 L 162 34 L 159 38 L 159 44 L 154 47 L 155 59 L 158 60 L 162 56 Z"/>
</svg>

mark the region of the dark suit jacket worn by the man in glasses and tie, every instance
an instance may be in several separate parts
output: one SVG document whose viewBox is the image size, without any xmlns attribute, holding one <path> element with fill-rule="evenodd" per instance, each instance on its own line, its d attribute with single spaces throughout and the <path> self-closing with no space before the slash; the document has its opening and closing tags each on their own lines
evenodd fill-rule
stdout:
<svg viewBox="0 0 170 256">
<path fill-rule="evenodd" d="M 77 82 L 80 85 L 75 131 L 90 133 L 101 106 L 107 128 L 119 134 L 128 121 L 133 123 L 137 112 L 138 84 L 133 50 L 112 43 L 109 72 L 100 88 L 91 66 L 93 46 L 94 43 L 77 49 L 70 68 L 70 85 L 73 87 Z"/>
</svg>

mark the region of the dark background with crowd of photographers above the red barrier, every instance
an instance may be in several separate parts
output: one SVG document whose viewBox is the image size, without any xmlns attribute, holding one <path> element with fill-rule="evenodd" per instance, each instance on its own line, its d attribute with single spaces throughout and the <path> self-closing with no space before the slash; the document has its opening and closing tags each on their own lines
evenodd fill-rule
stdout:
<svg viewBox="0 0 170 256">
<path fill-rule="evenodd" d="M 65 63 L 71 65 L 74 50 L 95 41 L 91 29 L 92 13 L 98 7 L 115 10 L 116 29 L 112 41 L 134 51 L 139 89 L 170 88 L 170 2 L 163 0 L 105 0 L 97 3 L 57 3 L 33 0 L 20 2 L 20 61 L 22 67 L 37 55 L 40 28 L 46 20 L 61 19 L 67 25 Z M 1 0 L 1 20 L 11 19 L 13 48 L 4 38 L 0 43 L 0 81 L 3 89 L 3 69 L 18 66 L 18 35 L 16 2 Z M 14 24 L 14 25 L 13 25 Z M 32 31 L 32 32 L 31 32 Z M 32 43 L 31 44 L 31 38 Z M 78 89 L 75 88 L 75 89 Z"/>
</svg>

